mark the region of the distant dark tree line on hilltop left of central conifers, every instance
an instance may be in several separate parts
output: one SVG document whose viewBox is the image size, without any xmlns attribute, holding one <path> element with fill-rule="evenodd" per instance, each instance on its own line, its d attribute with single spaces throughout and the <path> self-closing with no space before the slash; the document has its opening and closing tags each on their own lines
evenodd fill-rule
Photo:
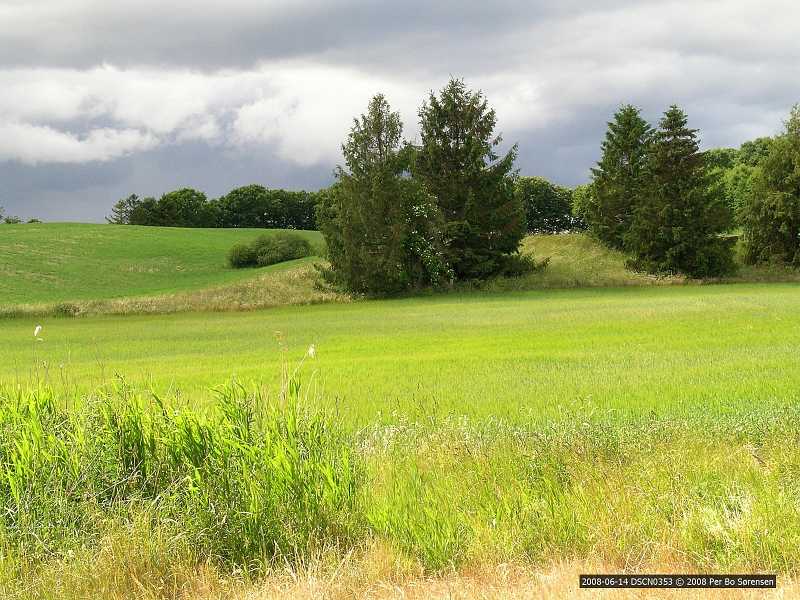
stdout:
<svg viewBox="0 0 800 600">
<path fill-rule="evenodd" d="M 183 188 L 160 198 L 132 194 L 120 200 L 106 217 L 109 223 L 158 227 L 257 227 L 316 229 L 318 196 L 305 191 L 269 190 L 248 185 L 218 199 Z"/>
</svg>

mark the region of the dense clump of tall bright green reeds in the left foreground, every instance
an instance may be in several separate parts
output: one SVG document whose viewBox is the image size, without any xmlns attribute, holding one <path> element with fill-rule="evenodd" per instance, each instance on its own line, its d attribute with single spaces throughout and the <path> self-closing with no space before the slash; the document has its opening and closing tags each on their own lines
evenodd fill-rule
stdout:
<svg viewBox="0 0 800 600">
<path fill-rule="evenodd" d="M 204 409 L 119 379 L 67 409 L 48 387 L 0 393 L 0 539 L 16 565 L 97 546 L 143 516 L 200 562 L 258 571 L 349 544 L 358 473 L 335 424 L 235 383 Z"/>
</svg>

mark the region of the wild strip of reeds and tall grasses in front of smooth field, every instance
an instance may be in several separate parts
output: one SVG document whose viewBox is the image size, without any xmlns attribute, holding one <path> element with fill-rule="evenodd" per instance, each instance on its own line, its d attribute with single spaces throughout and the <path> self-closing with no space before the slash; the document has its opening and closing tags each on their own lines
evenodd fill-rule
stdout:
<svg viewBox="0 0 800 600">
<path fill-rule="evenodd" d="M 565 556 L 800 564 L 796 406 L 661 419 L 577 404 L 544 423 L 428 414 L 350 431 L 285 382 L 272 402 L 220 386 L 202 408 L 122 379 L 83 397 L 3 388 L 3 596 L 201 596 L 198 573 L 235 587 L 328 564 L 335 578 L 354 554 L 362 577 Z"/>
</svg>

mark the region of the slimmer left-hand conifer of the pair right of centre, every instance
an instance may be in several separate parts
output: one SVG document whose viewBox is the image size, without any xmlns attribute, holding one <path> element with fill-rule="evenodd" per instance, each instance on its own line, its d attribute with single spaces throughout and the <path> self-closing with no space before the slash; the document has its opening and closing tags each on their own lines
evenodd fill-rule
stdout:
<svg viewBox="0 0 800 600">
<path fill-rule="evenodd" d="M 625 250 L 625 236 L 642 192 L 647 152 L 653 128 L 627 104 L 614 113 L 606 139 L 600 144 L 603 157 L 592 169 L 592 184 L 581 203 L 589 231 L 601 242 Z"/>
</svg>

